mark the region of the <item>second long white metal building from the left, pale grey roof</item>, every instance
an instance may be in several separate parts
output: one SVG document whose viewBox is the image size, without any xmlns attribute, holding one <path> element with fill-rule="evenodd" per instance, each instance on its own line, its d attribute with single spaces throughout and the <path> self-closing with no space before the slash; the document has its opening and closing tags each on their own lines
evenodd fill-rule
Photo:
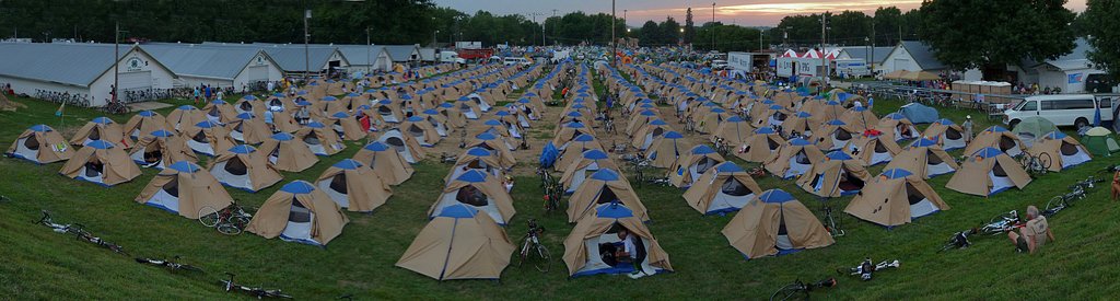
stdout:
<svg viewBox="0 0 1120 301">
<path fill-rule="evenodd" d="M 140 48 L 179 76 L 175 86 L 205 84 L 241 90 L 283 78 L 283 72 L 272 57 L 255 47 L 150 44 Z"/>
</svg>

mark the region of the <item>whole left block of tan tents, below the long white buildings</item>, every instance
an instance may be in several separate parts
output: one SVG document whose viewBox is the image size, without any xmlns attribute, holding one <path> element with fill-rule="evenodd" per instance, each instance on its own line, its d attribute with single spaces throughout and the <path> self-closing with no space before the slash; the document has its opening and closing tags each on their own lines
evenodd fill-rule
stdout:
<svg viewBox="0 0 1120 301">
<path fill-rule="evenodd" d="M 343 210 L 371 213 L 385 205 L 392 186 L 408 180 L 411 163 L 423 160 L 424 147 L 463 128 L 467 112 L 480 115 L 496 107 L 495 100 L 540 72 L 535 66 L 448 66 L 429 72 L 444 75 L 414 82 L 398 74 L 376 75 L 401 84 L 361 94 L 355 82 L 314 79 L 302 90 L 268 98 L 246 95 L 232 104 L 214 100 L 200 110 L 184 105 L 166 116 L 143 111 L 123 125 L 96 117 L 69 140 L 48 125 L 34 125 L 6 154 L 38 164 L 65 161 L 63 176 L 105 187 L 137 178 L 141 167 L 159 169 L 134 200 L 197 219 L 234 204 L 227 187 L 255 192 L 278 185 L 282 171 L 305 171 L 320 158 L 337 154 L 346 148 L 344 141 L 368 141 L 316 180 L 282 185 L 245 228 L 267 238 L 325 246 L 348 223 Z M 340 94 L 345 96 L 333 96 Z M 506 113 L 516 117 L 526 111 Z M 309 119 L 297 120 L 300 113 Z M 503 124 L 520 124 L 515 117 Z M 206 167 L 198 164 L 204 157 Z"/>
</svg>

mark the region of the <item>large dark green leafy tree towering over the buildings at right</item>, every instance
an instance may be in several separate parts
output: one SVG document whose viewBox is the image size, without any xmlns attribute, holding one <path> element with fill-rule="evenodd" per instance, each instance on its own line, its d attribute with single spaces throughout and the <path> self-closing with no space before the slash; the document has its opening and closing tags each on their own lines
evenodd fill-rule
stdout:
<svg viewBox="0 0 1120 301">
<path fill-rule="evenodd" d="M 1065 0 L 936 0 L 922 3 L 922 38 L 942 63 L 998 69 L 1073 50 Z M 989 74 L 986 76 L 995 76 Z"/>
</svg>

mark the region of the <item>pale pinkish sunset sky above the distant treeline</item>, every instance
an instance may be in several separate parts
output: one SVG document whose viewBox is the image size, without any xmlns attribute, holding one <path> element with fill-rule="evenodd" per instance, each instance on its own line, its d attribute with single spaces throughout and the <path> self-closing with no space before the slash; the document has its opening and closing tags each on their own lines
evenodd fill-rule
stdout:
<svg viewBox="0 0 1120 301">
<path fill-rule="evenodd" d="M 577 10 L 589 13 L 610 12 L 608 0 L 435 0 L 435 2 L 467 13 L 486 10 L 496 15 L 524 15 L 528 19 L 533 19 L 532 15 L 535 13 L 538 21 L 551 17 L 553 9 L 557 10 L 557 15 Z M 662 21 L 665 16 L 672 16 L 683 22 L 685 8 L 692 7 L 693 19 L 700 25 L 711 20 L 711 3 L 712 1 L 617 0 L 615 9 L 619 18 L 623 17 L 623 10 L 628 10 L 626 23 L 640 27 L 646 20 Z M 787 15 L 843 10 L 871 13 L 878 7 L 890 6 L 905 11 L 921 7 L 922 0 L 726 0 L 716 1 L 716 20 L 741 26 L 775 26 Z M 1082 11 L 1085 9 L 1085 0 L 1070 0 L 1066 7 Z"/>
</svg>

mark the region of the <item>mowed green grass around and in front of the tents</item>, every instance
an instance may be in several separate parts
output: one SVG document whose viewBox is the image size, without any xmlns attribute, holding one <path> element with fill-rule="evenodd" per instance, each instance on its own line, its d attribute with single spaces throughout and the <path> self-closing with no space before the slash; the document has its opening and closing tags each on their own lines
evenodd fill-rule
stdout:
<svg viewBox="0 0 1120 301">
<path fill-rule="evenodd" d="M 31 124 L 59 125 L 57 107 L 39 101 L 16 98 L 28 109 L 0 112 L 0 141 L 7 148 Z M 875 111 L 884 115 L 899 103 L 879 100 Z M 168 113 L 171 109 L 161 110 Z M 956 122 L 967 112 L 941 110 Z M 67 126 L 80 126 L 100 115 L 67 109 Z M 111 116 L 120 123 L 128 116 Z M 979 120 L 982 124 L 982 119 Z M 977 126 L 977 130 L 986 125 Z M 924 128 L 924 126 L 923 126 Z M 68 138 L 68 137 L 67 137 Z M 284 173 L 284 182 L 312 180 L 327 167 L 351 158 L 361 145 L 349 143 L 345 152 L 321 158 L 311 169 Z M 531 150 L 539 151 L 539 150 Z M 959 156 L 959 152 L 954 152 Z M 951 176 L 932 180 L 952 206 L 951 210 L 924 217 L 911 225 L 887 229 L 842 214 L 850 200 L 829 200 L 848 235 L 832 246 L 746 261 L 727 243 L 720 229 L 728 216 L 701 216 L 684 204 L 675 188 L 637 188 L 653 222 L 650 229 L 669 253 L 674 273 L 637 281 L 625 276 L 597 275 L 568 279 L 560 261 L 563 238 L 572 225 L 561 214 L 545 216 L 538 180 L 517 178 L 513 190 L 517 215 L 507 227 L 511 239 L 526 231 L 525 220 L 541 220 L 543 243 L 556 261 L 552 272 L 510 266 L 501 281 L 438 282 L 394 266 L 396 260 L 427 224 L 426 211 L 442 189 L 449 166 L 429 160 L 416 166 L 417 173 L 394 187 L 389 204 L 372 215 L 347 213 L 352 222 L 326 248 L 264 239 L 254 234 L 225 236 L 195 220 L 139 205 L 133 198 L 157 172 L 112 188 L 72 180 L 58 175 L 62 163 L 37 166 L 24 160 L 0 159 L 0 299 L 200 299 L 242 295 L 222 291 L 223 272 L 237 274 L 239 282 L 280 288 L 300 299 L 334 299 L 355 293 L 367 299 L 766 299 L 794 280 L 816 281 L 837 276 L 840 285 L 813 293 L 829 299 L 1110 299 L 1120 293 L 1120 256 L 1117 207 L 1109 200 L 1108 182 L 1090 191 L 1086 199 L 1051 219 L 1057 241 L 1038 254 L 1012 252 L 1005 237 L 974 237 L 974 246 L 935 253 L 954 232 L 970 228 L 992 216 L 1027 205 L 1044 206 L 1067 186 L 1100 173 L 1113 158 L 1061 173 L 1048 173 L 1026 190 L 1010 190 L 991 198 L 944 189 Z M 528 164 L 532 162 L 521 162 Z M 741 162 L 740 162 L 741 163 Z M 871 168 L 872 173 L 881 166 Z M 764 189 L 782 188 L 821 214 L 822 203 L 792 180 L 765 178 Z M 228 189 L 241 203 L 260 206 L 280 185 L 256 194 Z M 176 273 L 137 264 L 91 244 L 32 225 L 40 210 L 49 210 L 60 223 L 82 223 L 92 233 L 123 245 L 132 255 L 170 257 L 198 265 L 206 273 Z M 872 281 L 838 275 L 836 269 L 855 266 L 865 257 L 902 261 L 902 269 L 877 273 Z"/>
</svg>

